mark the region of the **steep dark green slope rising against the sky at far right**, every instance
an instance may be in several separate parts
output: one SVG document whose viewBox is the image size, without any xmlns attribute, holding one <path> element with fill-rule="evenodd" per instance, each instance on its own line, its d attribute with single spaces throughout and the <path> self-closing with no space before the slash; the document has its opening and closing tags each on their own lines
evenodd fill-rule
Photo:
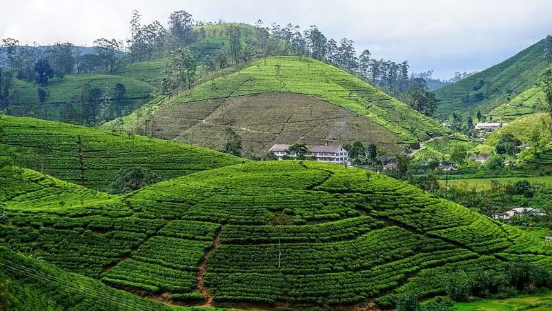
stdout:
<svg viewBox="0 0 552 311">
<path fill-rule="evenodd" d="M 546 68 L 544 40 L 491 68 L 435 90 L 441 103 L 437 112 L 451 114 L 470 109 L 490 111 L 535 86 Z"/>
</svg>

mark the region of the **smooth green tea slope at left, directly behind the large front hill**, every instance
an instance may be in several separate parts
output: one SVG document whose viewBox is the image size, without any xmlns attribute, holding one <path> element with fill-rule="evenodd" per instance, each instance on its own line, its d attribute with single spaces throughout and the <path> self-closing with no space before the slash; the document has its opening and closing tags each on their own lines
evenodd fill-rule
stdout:
<svg viewBox="0 0 552 311">
<path fill-rule="evenodd" d="M 108 190 L 121 168 L 148 168 L 170 179 L 246 161 L 182 143 L 39 119 L 5 116 L 0 125 L 0 148 L 12 148 L 19 165 L 96 190 Z"/>
</svg>

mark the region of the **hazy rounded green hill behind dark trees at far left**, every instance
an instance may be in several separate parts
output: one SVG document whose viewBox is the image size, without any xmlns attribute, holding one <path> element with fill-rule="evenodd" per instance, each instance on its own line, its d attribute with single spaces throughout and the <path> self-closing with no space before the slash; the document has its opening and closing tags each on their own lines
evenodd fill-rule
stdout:
<svg viewBox="0 0 552 311">
<path fill-rule="evenodd" d="M 138 76 L 135 70 L 135 75 Z M 90 88 L 99 88 L 103 93 L 110 97 L 110 105 L 107 110 L 107 119 L 115 119 L 121 115 L 126 115 L 137 109 L 144 103 L 150 101 L 152 92 L 155 90 L 150 84 L 132 79 L 110 74 L 70 74 L 63 77 L 61 81 L 50 81 L 46 90 L 48 90 L 48 100 L 46 105 L 38 105 L 38 86 L 36 83 L 28 83 L 17 80 L 14 83 L 12 92 L 19 92 L 21 103 L 10 106 L 8 112 L 13 115 L 30 116 L 38 114 L 41 119 L 59 121 L 63 119 L 62 115 L 68 109 L 68 104 L 72 104 L 77 110 L 82 101 L 82 97 L 88 100 L 88 94 L 83 94 L 83 86 L 89 83 Z M 124 99 L 115 101 L 115 85 L 121 83 L 126 94 Z M 15 91 L 17 90 L 17 91 Z M 33 104 L 34 107 L 33 108 Z M 37 112 L 32 110 L 36 109 Z"/>
</svg>

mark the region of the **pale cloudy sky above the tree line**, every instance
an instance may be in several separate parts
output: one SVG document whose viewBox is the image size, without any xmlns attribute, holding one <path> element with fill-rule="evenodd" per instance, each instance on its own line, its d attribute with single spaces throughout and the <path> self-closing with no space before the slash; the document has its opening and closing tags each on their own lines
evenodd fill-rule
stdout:
<svg viewBox="0 0 552 311">
<path fill-rule="evenodd" d="M 440 78 L 492 66 L 552 33 L 550 0 L 0 1 L 0 38 L 22 44 L 126 39 L 134 9 L 143 23 L 164 24 L 170 12 L 186 10 L 197 21 L 316 25 L 328 39 L 352 39 L 358 52 L 408 60 L 411 71 Z"/>
</svg>

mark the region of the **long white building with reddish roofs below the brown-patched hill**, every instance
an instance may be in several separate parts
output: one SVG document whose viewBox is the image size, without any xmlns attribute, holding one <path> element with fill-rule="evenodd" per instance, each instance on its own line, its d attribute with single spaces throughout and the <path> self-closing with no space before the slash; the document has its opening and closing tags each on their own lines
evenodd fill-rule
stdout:
<svg viewBox="0 0 552 311">
<path fill-rule="evenodd" d="M 276 144 L 270 148 L 269 151 L 272 152 L 278 160 L 283 160 L 286 156 L 290 158 L 297 157 L 297 154 L 288 152 L 290 146 L 291 145 L 286 144 Z M 349 163 L 349 154 L 342 146 L 310 146 L 308 150 L 311 151 L 311 155 L 319 162 L 338 164 Z"/>
</svg>

